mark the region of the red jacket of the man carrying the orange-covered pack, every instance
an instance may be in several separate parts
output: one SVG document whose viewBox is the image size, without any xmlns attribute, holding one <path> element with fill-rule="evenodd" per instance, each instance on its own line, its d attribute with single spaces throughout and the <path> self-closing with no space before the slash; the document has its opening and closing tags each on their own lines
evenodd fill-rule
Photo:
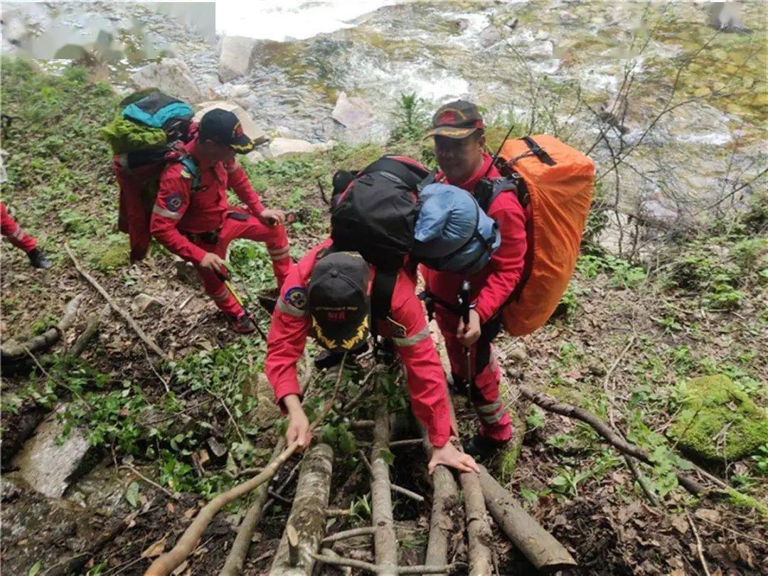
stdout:
<svg viewBox="0 0 768 576">
<path fill-rule="evenodd" d="M 474 193 L 475 186 L 485 175 L 491 163 L 492 157 L 484 153 L 482 166 L 475 170 L 472 177 L 465 182 L 449 182 L 449 184 Z M 491 166 L 487 177 L 498 178 L 501 174 L 495 166 Z M 445 181 L 445 174 L 442 171 L 439 172 L 436 179 Z M 480 321 L 487 322 L 507 301 L 522 276 L 528 247 L 525 225 L 530 217 L 529 212 L 530 207 L 523 210 L 515 194 L 499 194 L 488 207 L 488 216 L 496 221 L 502 237 L 502 244 L 491 257 L 491 261 L 472 276 L 455 272 L 437 272 L 421 266 L 427 289 L 435 293 L 440 300 L 455 303 L 462 281 L 469 280 L 472 285 L 472 298 L 476 303 L 475 310 L 480 316 Z"/>
</svg>

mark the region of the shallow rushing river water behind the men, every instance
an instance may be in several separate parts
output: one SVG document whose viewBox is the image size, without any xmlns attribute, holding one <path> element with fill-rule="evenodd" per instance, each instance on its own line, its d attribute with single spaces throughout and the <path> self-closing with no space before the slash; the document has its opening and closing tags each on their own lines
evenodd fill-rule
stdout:
<svg viewBox="0 0 768 576">
<path fill-rule="evenodd" d="M 93 44 L 94 30 L 110 31 L 116 84 L 146 58 L 170 54 L 187 61 L 204 92 L 226 93 L 214 32 L 257 38 L 249 73 L 235 81 L 247 86 L 240 101 L 268 131 L 314 142 L 386 141 L 404 93 L 417 94 L 427 115 L 468 98 L 488 121 L 554 132 L 590 151 L 606 201 L 662 227 L 710 214 L 765 167 L 763 2 L 731 8 L 721 31 L 707 2 L 261 0 L 217 2 L 215 18 L 212 6 L 199 5 L 193 22 L 191 12 L 169 16 L 161 6 L 3 10 L 31 15 L 38 45 L 54 38 L 45 58 L 57 41 L 79 34 Z M 368 102 L 364 130 L 331 118 L 340 92 Z M 626 97 L 617 100 L 620 92 Z M 610 170 L 612 152 L 633 146 Z M 743 206 L 755 184 L 716 211 Z"/>
</svg>

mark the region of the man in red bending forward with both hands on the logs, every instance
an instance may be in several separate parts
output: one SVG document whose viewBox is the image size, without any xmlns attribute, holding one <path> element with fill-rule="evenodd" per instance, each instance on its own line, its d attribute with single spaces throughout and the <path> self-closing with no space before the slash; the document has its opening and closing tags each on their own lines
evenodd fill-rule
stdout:
<svg viewBox="0 0 768 576">
<path fill-rule="evenodd" d="M 310 330 L 323 348 L 343 352 L 366 342 L 371 321 L 370 293 L 376 269 L 359 253 L 329 250 L 331 244 L 331 240 L 319 244 L 291 268 L 267 337 L 264 372 L 276 402 L 290 417 L 286 439 L 298 439 L 303 446 L 310 442 L 310 422 L 301 406 L 296 362 Z M 411 408 L 434 447 L 429 472 L 438 464 L 478 472 L 472 457 L 451 442 L 455 431 L 445 374 L 422 303 L 415 295 L 415 278 L 403 269 L 396 274 L 389 314 L 372 322 L 377 323 L 380 335 L 391 337 L 406 369 Z"/>
</svg>

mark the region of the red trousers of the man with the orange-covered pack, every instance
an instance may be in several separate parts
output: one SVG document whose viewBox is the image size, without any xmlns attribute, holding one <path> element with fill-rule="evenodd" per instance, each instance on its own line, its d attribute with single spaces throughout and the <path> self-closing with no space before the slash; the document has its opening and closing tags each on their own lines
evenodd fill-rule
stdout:
<svg viewBox="0 0 768 576">
<path fill-rule="evenodd" d="M 466 381 L 466 349 L 456 339 L 458 316 L 442 306 L 436 306 L 435 319 L 445 339 L 453 377 Z M 480 339 L 470 348 L 472 382 L 469 382 L 468 395 L 480 421 L 480 435 L 498 442 L 506 442 L 512 435 L 511 420 L 499 397 L 501 371 L 491 343 L 499 329 L 501 318 L 497 316 L 490 319 L 482 326 Z"/>
</svg>

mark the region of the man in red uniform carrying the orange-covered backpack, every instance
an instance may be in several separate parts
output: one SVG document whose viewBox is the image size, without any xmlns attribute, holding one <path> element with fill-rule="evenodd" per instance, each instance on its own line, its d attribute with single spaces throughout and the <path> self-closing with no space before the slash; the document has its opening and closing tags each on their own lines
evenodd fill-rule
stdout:
<svg viewBox="0 0 768 576">
<path fill-rule="evenodd" d="M 485 152 L 482 116 L 475 104 L 455 101 L 445 104 L 432 119 L 427 137 L 435 139 L 435 157 L 440 171 L 436 180 L 475 194 L 483 178 L 498 178 L 492 157 Z M 511 438 L 511 421 L 498 385 L 501 378 L 493 353 L 492 340 L 501 328 L 502 306 L 518 286 L 525 267 L 528 216 L 516 194 L 499 194 L 486 210 L 498 224 L 501 246 L 487 266 L 472 276 L 438 272 L 421 266 L 426 291 L 434 296 L 435 319 L 445 338 L 452 371 L 452 389 L 466 393 L 480 421 L 478 435 L 465 444 L 465 450 L 487 456 Z M 472 287 L 469 323 L 440 302 L 455 305 L 462 282 Z M 470 347 L 470 363 L 465 366 L 465 347 Z M 467 382 L 467 376 L 472 376 Z"/>
</svg>

